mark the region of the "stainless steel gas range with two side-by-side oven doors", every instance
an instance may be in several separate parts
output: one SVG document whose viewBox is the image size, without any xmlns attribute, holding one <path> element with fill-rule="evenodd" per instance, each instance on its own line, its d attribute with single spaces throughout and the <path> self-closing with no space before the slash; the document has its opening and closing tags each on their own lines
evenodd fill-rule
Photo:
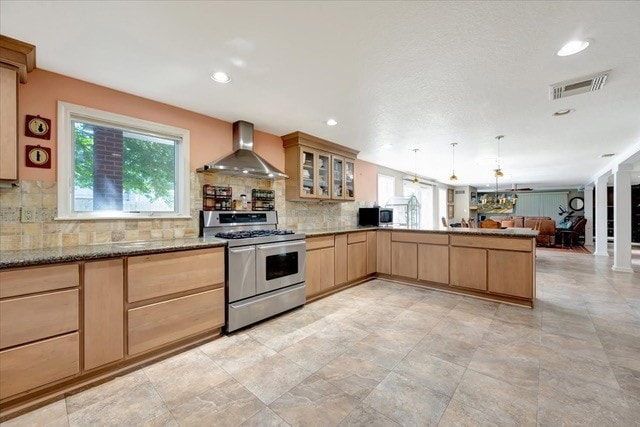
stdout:
<svg viewBox="0 0 640 427">
<path fill-rule="evenodd" d="M 305 302 L 305 235 L 277 224 L 276 211 L 200 212 L 200 236 L 227 240 L 227 332 Z"/>
</svg>

